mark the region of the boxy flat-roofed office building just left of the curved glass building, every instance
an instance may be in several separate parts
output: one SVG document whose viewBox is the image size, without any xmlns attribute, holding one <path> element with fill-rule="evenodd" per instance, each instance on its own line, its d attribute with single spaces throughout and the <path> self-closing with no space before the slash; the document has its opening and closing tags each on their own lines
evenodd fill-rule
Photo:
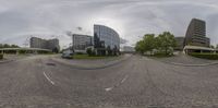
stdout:
<svg viewBox="0 0 218 108">
<path fill-rule="evenodd" d="M 93 36 L 73 34 L 73 49 L 75 51 L 85 51 L 87 47 L 93 46 Z"/>
</svg>

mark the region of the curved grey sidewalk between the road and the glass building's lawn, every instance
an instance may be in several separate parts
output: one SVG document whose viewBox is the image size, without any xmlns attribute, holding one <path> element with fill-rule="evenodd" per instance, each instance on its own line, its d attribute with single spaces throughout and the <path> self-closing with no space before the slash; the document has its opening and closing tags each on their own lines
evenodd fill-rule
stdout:
<svg viewBox="0 0 218 108">
<path fill-rule="evenodd" d="M 92 70 L 92 69 L 104 69 L 118 64 L 122 61 L 131 58 L 131 55 L 124 55 L 121 57 L 108 58 L 108 59 L 97 59 L 97 60 L 74 60 L 74 59 L 62 59 L 61 57 L 51 58 L 52 61 L 59 62 L 73 67 L 75 69 Z"/>
</svg>

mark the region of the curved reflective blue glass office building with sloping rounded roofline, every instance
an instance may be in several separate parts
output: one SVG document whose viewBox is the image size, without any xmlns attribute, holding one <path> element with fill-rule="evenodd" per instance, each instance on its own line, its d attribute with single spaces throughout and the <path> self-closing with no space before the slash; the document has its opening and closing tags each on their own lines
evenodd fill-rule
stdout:
<svg viewBox="0 0 218 108">
<path fill-rule="evenodd" d="M 107 55 L 107 49 L 117 55 L 120 51 L 119 34 L 110 27 L 94 25 L 94 48 L 97 55 Z"/>
</svg>

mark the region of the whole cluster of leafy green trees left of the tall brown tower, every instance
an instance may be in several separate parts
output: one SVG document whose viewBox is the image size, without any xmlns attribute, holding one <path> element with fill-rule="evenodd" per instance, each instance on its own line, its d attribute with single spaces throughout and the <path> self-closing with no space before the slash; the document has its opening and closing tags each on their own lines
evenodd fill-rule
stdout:
<svg viewBox="0 0 218 108">
<path fill-rule="evenodd" d="M 136 43 L 135 50 L 141 53 L 164 53 L 172 55 L 173 48 L 177 47 L 174 35 L 170 32 L 164 32 L 158 36 L 146 34 L 143 39 Z"/>
</svg>

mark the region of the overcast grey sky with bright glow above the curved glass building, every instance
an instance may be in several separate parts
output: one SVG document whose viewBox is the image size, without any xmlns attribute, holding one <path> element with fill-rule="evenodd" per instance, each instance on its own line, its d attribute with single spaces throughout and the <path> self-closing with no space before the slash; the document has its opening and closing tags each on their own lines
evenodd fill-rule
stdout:
<svg viewBox="0 0 218 108">
<path fill-rule="evenodd" d="M 0 0 L 0 44 L 56 37 L 63 48 L 72 43 L 68 32 L 93 35 L 101 24 L 134 46 L 144 34 L 184 36 L 193 17 L 206 21 L 207 37 L 218 44 L 217 0 Z"/>
</svg>

